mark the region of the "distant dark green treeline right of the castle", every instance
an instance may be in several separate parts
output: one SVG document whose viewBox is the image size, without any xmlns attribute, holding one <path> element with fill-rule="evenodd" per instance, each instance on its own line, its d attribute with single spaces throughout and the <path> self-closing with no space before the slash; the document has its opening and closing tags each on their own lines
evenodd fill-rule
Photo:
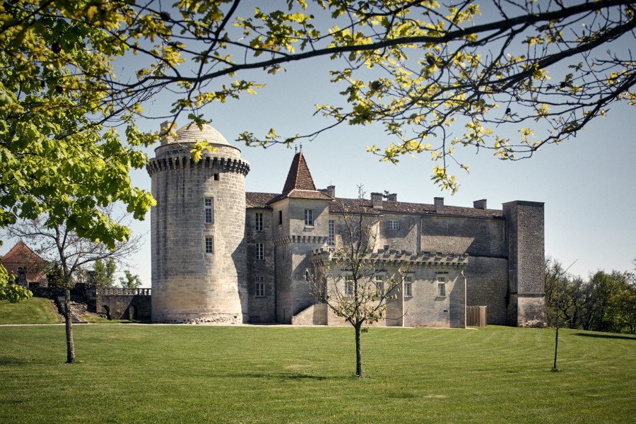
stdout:
<svg viewBox="0 0 636 424">
<path fill-rule="evenodd" d="M 636 259 L 635 259 L 636 262 Z M 572 329 L 635 334 L 636 275 L 597 271 L 587 280 L 546 260 L 548 324 Z"/>
</svg>

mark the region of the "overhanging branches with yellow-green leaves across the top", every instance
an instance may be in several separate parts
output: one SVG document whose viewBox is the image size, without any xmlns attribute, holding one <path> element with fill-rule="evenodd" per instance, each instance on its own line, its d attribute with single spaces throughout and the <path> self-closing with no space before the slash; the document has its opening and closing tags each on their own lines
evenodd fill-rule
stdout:
<svg viewBox="0 0 636 424">
<path fill-rule="evenodd" d="M 12 78 L 1 78 L 0 104 L 18 110 L 11 122 L 40 107 L 23 100 L 44 86 L 52 94 L 44 110 L 66 111 L 64 98 L 88 95 L 77 105 L 81 113 L 98 110 L 93 116 L 105 122 L 139 112 L 170 88 L 172 116 L 185 112 L 201 122 L 202 107 L 263 86 L 242 77 L 247 71 L 273 74 L 295 61 L 329 58 L 343 105 L 317 106 L 334 119 L 326 128 L 379 122 L 390 144 L 369 151 L 391 162 L 430 152 L 432 179 L 453 191 L 458 183 L 448 171 L 457 146 L 526 158 L 576 136 L 614 102 L 636 105 L 636 64 L 625 47 L 634 40 L 636 0 L 286 4 L 250 10 L 230 0 L 172 8 L 151 0 L 5 1 L 1 70 Z M 118 78 L 113 57 L 126 53 L 141 56 L 142 65 Z M 505 126 L 518 136 L 495 134 Z M 291 143 L 326 128 L 286 137 L 245 131 L 240 139 Z"/>
</svg>

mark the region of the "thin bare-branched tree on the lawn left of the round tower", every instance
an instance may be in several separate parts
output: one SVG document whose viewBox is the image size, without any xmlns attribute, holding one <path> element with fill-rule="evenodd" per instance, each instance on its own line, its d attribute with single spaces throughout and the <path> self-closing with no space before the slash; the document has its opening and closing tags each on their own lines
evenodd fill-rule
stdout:
<svg viewBox="0 0 636 424">
<path fill-rule="evenodd" d="M 112 211 L 105 211 L 112 218 Z M 122 223 L 124 218 L 116 219 Z M 40 217 L 22 220 L 7 228 L 10 237 L 25 240 L 33 251 L 59 266 L 60 283 L 64 287 L 64 322 L 66 324 L 66 362 L 74 363 L 75 343 L 71 324 L 71 285 L 83 267 L 100 260 L 114 260 L 126 264 L 126 259 L 143 245 L 140 236 L 125 242 L 116 242 L 111 249 L 102 242 L 93 242 L 77 233 L 66 223 L 54 223 Z"/>
</svg>

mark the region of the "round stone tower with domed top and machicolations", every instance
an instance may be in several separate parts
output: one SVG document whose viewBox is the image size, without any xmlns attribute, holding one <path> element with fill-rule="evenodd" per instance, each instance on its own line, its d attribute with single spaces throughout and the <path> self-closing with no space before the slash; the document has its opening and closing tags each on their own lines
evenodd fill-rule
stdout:
<svg viewBox="0 0 636 424">
<path fill-rule="evenodd" d="M 153 322 L 247 322 L 249 163 L 207 124 L 188 124 L 177 136 L 165 137 L 146 167 L 157 201 L 151 211 Z M 204 140 L 215 151 L 204 151 L 195 163 L 190 150 Z"/>
</svg>

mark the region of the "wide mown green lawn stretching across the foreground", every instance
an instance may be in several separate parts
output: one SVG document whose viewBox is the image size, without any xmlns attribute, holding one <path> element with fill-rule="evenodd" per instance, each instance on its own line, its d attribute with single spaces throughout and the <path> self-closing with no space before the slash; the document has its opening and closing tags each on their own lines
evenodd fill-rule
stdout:
<svg viewBox="0 0 636 424">
<path fill-rule="evenodd" d="M 632 423 L 636 337 L 281 326 L 1 327 L 1 423 Z"/>
</svg>

